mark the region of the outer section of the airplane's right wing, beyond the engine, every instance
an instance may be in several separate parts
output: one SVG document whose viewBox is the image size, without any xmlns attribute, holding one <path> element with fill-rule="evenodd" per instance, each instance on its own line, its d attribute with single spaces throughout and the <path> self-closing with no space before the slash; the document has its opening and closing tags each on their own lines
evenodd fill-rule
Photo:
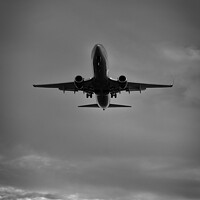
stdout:
<svg viewBox="0 0 200 200">
<path fill-rule="evenodd" d="M 126 91 L 142 91 L 142 90 L 146 90 L 147 88 L 168 88 L 172 86 L 173 85 L 128 82 L 125 90 Z"/>
</svg>

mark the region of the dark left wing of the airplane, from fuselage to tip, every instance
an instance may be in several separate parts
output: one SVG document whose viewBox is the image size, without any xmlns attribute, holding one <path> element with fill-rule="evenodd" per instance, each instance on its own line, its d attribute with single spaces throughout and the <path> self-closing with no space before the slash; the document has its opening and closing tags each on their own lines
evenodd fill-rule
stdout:
<svg viewBox="0 0 200 200">
<path fill-rule="evenodd" d="M 39 84 L 39 85 L 33 85 L 33 87 L 58 88 L 59 90 L 62 90 L 62 91 L 73 91 L 73 92 L 84 91 L 84 92 L 93 93 L 92 79 L 84 80 L 83 87 L 81 88 L 77 88 L 74 82 Z"/>
</svg>

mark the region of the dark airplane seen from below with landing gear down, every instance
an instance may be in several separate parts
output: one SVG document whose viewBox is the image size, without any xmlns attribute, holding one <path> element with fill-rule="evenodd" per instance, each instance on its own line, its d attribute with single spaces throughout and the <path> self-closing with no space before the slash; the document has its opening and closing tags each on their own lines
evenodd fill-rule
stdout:
<svg viewBox="0 0 200 200">
<path fill-rule="evenodd" d="M 131 107 L 129 105 L 111 104 L 111 98 L 117 98 L 117 94 L 122 91 L 141 91 L 147 88 L 168 88 L 171 85 L 162 84 L 147 84 L 128 82 L 126 76 L 120 75 L 118 79 L 112 79 L 108 75 L 108 57 L 107 52 L 102 44 L 96 44 L 91 53 L 94 76 L 89 79 L 84 79 L 81 75 L 77 75 L 72 82 L 53 83 L 33 85 L 40 88 L 58 88 L 59 90 L 86 93 L 86 98 L 92 98 L 93 94 L 96 96 L 96 104 L 81 105 L 78 107 L 87 108 L 117 108 L 117 107 Z"/>
</svg>

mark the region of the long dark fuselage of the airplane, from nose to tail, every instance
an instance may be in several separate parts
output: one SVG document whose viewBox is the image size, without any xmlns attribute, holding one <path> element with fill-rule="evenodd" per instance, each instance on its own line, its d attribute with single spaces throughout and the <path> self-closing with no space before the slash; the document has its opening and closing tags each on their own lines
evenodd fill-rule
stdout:
<svg viewBox="0 0 200 200">
<path fill-rule="evenodd" d="M 94 88 L 99 107 L 106 109 L 110 104 L 108 61 L 105 48 L 97 44 L 92 50 L 92 64 L 94 71 Z"/>
</svg>

